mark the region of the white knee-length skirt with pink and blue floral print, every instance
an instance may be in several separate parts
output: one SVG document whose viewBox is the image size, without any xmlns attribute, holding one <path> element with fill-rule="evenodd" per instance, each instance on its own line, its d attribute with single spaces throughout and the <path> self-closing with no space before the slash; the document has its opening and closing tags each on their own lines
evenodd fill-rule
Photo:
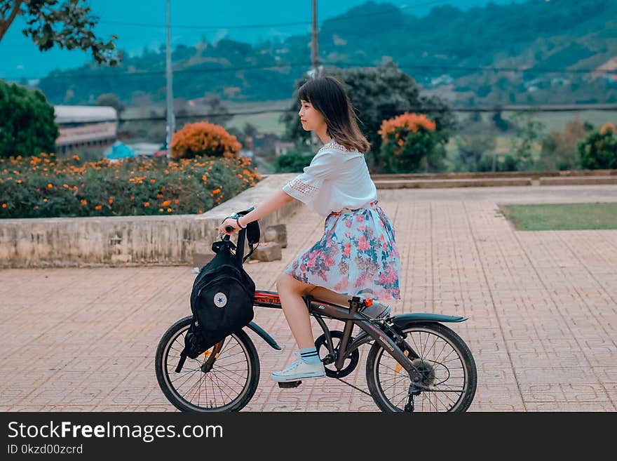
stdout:
<svg viewBox="0 0 617 461">
<path fill-rule="evenodd" d="M 323 237 L 285 269 L 299 281 L 373 300 L 400 299 L 394 228 L 377 201 L 325 219 Z"/>
</svg>

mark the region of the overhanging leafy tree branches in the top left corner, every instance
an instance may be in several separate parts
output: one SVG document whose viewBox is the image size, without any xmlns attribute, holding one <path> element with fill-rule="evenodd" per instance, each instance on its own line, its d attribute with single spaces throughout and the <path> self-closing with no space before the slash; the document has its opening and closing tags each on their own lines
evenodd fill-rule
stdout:
<svg viewBox="0 0 617 461">
<path fill-rule="evenodd" d="M 40 51 L 53 46 L 67 50 L 90 51 L 99 64 L 115 66 L 120 62 L 111 35 L 109 41 L 97 39 L 93 27 L 98 18 L 86 6 L 86 0 L 0 0 L 0 41 L 18 16 L 25 18 L 22 30 L 30 36 Z"/>
</svg>

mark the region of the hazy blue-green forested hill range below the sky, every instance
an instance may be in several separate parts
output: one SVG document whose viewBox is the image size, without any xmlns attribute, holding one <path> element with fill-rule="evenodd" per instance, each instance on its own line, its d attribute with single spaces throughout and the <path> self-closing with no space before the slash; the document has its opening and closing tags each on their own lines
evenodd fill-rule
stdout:
<svg viewBox="0 0 617 461">
<path fill-rule="evenodd" d="M 616 102 L 614 76 L 581 72 L 617 58 L 616 18 L 617 2 L 602 0 L 488 4 L 467 11 L 436 6 L 421 18 L 368 2 L 323 23 L 319 52 L 326 67 L 372 66 L 390 56 L 423 86 L 459 105 Z M 294 79 L 310 65 L 309 42 L 306 34 L 256 46 L 229 39 L 177 46 L 175 97 L 290 98 Z M 39 87 L 55 104 L 93 103 L 102 93 L 116 93 L 128 104 L 144 97 L 162 101 L 164 71 L 164 50 L 144 51 L 118 68 L 53 72 Z"/>
</svg>

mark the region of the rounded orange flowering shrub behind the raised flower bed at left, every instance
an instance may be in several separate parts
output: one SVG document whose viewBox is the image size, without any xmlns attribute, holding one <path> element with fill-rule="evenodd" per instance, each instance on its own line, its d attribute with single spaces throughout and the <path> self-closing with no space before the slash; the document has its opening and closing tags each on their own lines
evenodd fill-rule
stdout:
<svg viewBox="0 0 617 461">
<path fill-rule="evenodd" d="M 173 134 L 171 156 L 174 159 L 192 159 L 194 156 L 236 156 L 242 149 L 236 136 L 225 128 L 207 121 L 187 123 Z"/>
</svg>

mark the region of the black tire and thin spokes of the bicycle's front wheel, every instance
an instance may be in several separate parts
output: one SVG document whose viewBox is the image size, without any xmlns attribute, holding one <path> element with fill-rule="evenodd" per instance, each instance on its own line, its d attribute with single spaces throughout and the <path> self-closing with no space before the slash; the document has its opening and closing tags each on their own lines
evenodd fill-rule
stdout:
<svg viewBox="0 0 617 461">
<path fill-rule="evenodd" d="M 233 342 L 234 344 L 229 349 L 226 349 L 226 345 L 224 345 L 222 351 L 220 352 L 220 356 L 217 358 L 217 360 L 214 363 L 214 366 L 212 367 L 212 370 L 208 372 L 203 372 L 200 369 L 201 364 L 203 363 L 203 361 L 205 361 L 205 359 L 202 359 L 202 357 L 204 357 L 204 354 L 201 354 L 196 359 L 189 359 L 187 357 L 187 361 L 184 363 L 184 367 L 182 368 L 182 372 L 180 373 L 180 375 L 182 375 L 182 380 L 184 380 L 184 378 L 188 376 L 188 373 L 198 373 L 199 394 L 198 394 L 197 403 L 194 403 L 193 401 L 189 401 L 185 399 L 184 396 L 180 394 L 181 392 L 180 389 L 178 389 L 177 386 L 174 385 L 175 380 L 178 380 L 179 378 L 176 378 L 175 380 L 172 379 L 172 375 L 170 375 L 170 373 L 171 374 L 175 373 L 175 368 L 178 362 L 177 359 L 179 359 L 179 351 L 182 350 L 182 347 L 184 347 L 184 334 L 186 334 L 187 330 L 189 329 L 191 320 L 192 320 L 192 317 L 187 316 L 187 317 L 184 317 L 184 319 L 180 319 L 179 321 L 175 322 L 172 326 L 168 328 L 167 331 L 165 331 L 165 333 L 161 337 L 161 340 L 159 340 L 158 342 L 158 346 L 156 347 L 156 357 L 154 361 L 155 363 L 154 368 L 155 368 L 155 373 L 156 373 L 156 380 L 158 381 L 159 387 L 161 387 L 161 391 L 163 391 L 163 394 L 165 394 L 165 397 L 167 397 L 170 403 L 172 403 L 173 406 L 175 406 L 178 410 L 181 410 L 181 411 L 186 411 L 186 412 L 191 412 L 191 413 L 208 413 L 208 412 L 223 412 L 223 411 L 241 410 L 242 408 L 246 406 L 246 404 L 250 401 L 250 399 L 252 399 L 252 396 L 255 395 L 255 391 L 257 390 L 257 385 L 259 385 L 259 371 L 260 371 L 259 370 L 259 356 L 257 355 L 257 349 L 255 349 L 255 345 L 253 344 L 252 340 L 243 330 L 239 330 L 238 332 L 233 333 L 229 335 L 227 338 L 225 338 L 226 345 L 230 344 L 231 342 Z M 210 375 L 210 381 L 212 382 L 213 380 L 217 379 L 217 383 L 220 382 L 218 378 L 212 378 L 213 376 L 216 375 L 216 372 L 219 371 L 219 370 L 215 370 L 215 367 L 217 366 L 217 363 L 220 364 L 221 361 L 225 359 L 225 358 L 222 358 L 224 352 L 226 352 L 226 350 L 231 351 L 231 349 L 235 348 L 236 345 L 240 347 L 240 350 L 239 351 L 234 350 L 233 355 L 240 355 L 240 353 L 243 354 L 243 357 L 244 357 L 243 360 L 246 361 L 246 370 L 247 370 L 246 377 L 243 379 L 240 379 L 239 380 L 240 382 L 238 382 L 238 384 L 242 385 L 237 392 L 238 395 L 231 398 L 229 402 L 226 402 L 219 406 L 217 405 L 219 396 L 216 395 L 216 392 L 214 391 L 214 389 L 212 390 L 212 392 L 215 395 L 210 396 L 210 399 L 208 399 L 208 384 L 206 380 L 208 380 L 208 373 L 212 373 L 212 375 Z M 174 356 L 170 358 L 171 350 L 174 351 Z M 178 355 L 177 358 L 175 357 L 175 354 Z M 208 354 L 208 351 L 205 352 L 205 354 Z M 229 356 L 231 355 L 227 356 L 228 359 L 229 359 Z M 240 359 L 240 358 L 241 357 L 238 356 L 233 360 Z M 240 360 L 236 363 L 242 363 L 242 361 Z M 234 371 L 230 371 L 230 370 L 221 370 L 220 373 L 226 379 L 229 379 L 230 373 L 234 375 L 236 374 Z M 206 376 L 206 378 L 203 378 L 201 375 Z M 205 386 L 201 385 L 202 378 L 204 379 L 203 383 Z M 232 376 L 231 379 L 234 382 L 236 382 L 234 378 L 235 377 Z M 188 382 L 190 379 L 191 377 L 189 376 L 187 380 L 184 380 L 184 383 Z M 193 387 L 194 386 L 195 385 L 193 385 Z M 202 387 L 205 387 L 206 389 L 205 401 L 203 405 L 201 405 L 201 399 L 200 399 Z M 222 401 L 224 401 L 224 394 L 226 396 L 229 396 L 227 392 L 230 392 L 229 388 L 227 388 L 225 391 L 222 389 L 219 389 L 219 394 L 220 394 L 220 398 L 222 399 Z M 197 391 L 195 393 L 197 393 Z M 186 395 L 186 393 L 184 395 Z M 214 401 L 212 401 L 213 398 L 215 399 Z"/>
</svg>

